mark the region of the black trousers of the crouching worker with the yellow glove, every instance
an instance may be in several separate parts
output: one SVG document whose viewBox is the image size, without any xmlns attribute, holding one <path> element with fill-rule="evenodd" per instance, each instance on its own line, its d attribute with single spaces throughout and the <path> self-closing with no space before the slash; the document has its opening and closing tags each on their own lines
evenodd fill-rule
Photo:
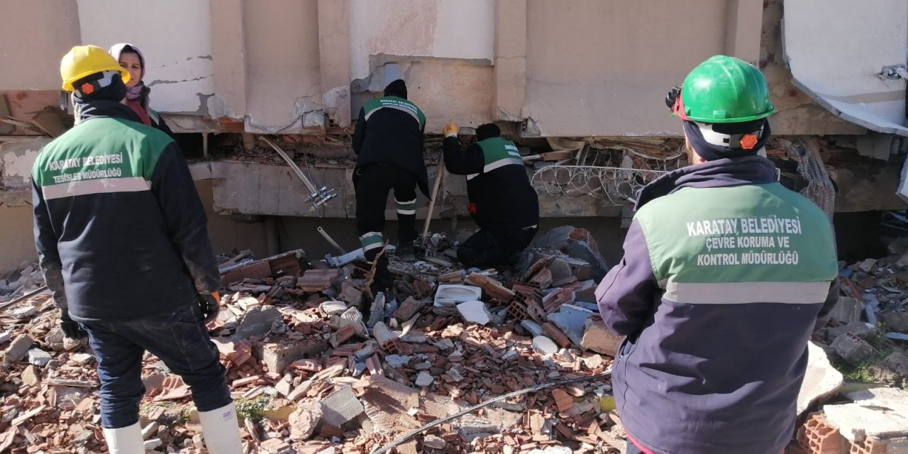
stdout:
<svg viewBox="0 0 908 454">
<path fill-rule="evenodd" d="M 512 265 L 538 232 L 537 227 L 523 229 L 481 229 L 460 245 L 457 258 L 466 267 Z"/>
</svg>

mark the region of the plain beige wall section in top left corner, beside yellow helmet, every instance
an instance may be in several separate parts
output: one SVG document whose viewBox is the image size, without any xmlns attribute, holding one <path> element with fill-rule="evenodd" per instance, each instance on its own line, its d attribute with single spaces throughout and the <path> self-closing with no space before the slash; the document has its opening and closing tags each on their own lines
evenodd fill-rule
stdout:
<svg viewBox="0 0 908 454">
<path fill-rule="evenodd" d="M 60 57 L 79 44 L 73 1 L 0 0 L 0 90 L 59 90 Z"/>
</svg>

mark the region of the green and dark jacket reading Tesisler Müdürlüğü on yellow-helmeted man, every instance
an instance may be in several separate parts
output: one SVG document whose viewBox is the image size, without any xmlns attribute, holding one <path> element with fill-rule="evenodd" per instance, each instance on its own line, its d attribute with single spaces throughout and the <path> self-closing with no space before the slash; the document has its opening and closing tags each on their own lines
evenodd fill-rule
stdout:
<svg viewBox="0 0 908 454">
<path fill-rule="evenodd" d="M 74 321 L 173 311 L 220 288 L 207 219 L 179 146 L 123 104 L 86 103 L 33 169 L 35 245 Z"/>
</svg>

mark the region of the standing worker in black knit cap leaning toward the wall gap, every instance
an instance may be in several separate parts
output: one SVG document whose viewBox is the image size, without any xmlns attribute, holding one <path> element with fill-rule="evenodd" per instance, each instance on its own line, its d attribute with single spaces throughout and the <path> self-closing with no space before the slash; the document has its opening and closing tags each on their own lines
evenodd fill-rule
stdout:
<svg viewBox="0 0 908 454">
<path fill-rule="evenodd" d="M 398 215 L 400 257 L 413 257 L 416 240 L 416 188 L 429 195 L 429 177 L 423 160 L 422 134 L 426 115 L 407 100 L 407 84 L 398 79 L 388 84 L 384 96 L 360 109 L 353 133 L 353 151 L 359 156 L 353 174 L 356 189 L 356 231 L 366 260 L 373 262 L 384 245 L 385 204 L 394 191 Z M 382 256 L 375 290 L 393 283 Z"/>
</svg>

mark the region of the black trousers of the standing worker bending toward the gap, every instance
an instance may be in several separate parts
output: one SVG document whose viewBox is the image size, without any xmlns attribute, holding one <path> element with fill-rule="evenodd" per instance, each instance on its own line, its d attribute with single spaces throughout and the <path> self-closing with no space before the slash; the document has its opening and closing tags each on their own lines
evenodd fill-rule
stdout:
<svg viewBox="0 0 908 454">
<path fill-rule="evenodd" d="M 356 170 L 353 187 L 356 189 L 356 234 L 360 239 L 363 235 L 384 231 L 388 193 L 394 191 L 398 241 L 409 244 L 416 240 L 416 175 L 394 164 L 371 163 Z M 378 250 L 366 252 L 366 259 L 371 261 Z"/>
</svg>

